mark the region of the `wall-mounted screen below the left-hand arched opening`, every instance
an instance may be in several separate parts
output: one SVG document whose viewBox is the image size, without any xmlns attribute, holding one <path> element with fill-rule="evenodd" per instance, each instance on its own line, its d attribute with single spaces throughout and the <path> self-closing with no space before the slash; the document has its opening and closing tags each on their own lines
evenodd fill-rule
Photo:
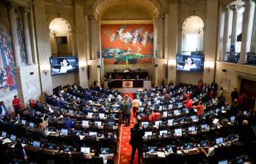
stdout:
<svg viewBox="0 0 256 164">
<path fill-rule="evenodd" d="M 51 57 L 51 75 L 60 75 L 78 71 L 76 56 Z"/>
</svg>

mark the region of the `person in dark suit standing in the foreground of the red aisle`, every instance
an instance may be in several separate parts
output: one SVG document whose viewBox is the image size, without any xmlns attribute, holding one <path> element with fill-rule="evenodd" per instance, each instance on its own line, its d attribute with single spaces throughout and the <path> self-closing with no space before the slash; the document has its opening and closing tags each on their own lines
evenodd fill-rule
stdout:
<svg viewBox="0 0 256 164">
<path fill-rule="evenodd" d="M 143 136 L 145 135 L 144 130 L 142 127 L 137 123 L 134 124 L 134 127 L 131 128 L 131 141 L 130 144 L 132 146 L 132 153 L 131 153 L 131 161 L 130 163 L 134 163 L 134 156 L 136 149 L 138 149 L 138 163 L 141 163 L 142 159 L 142 146 L 143 146 Z"/>
</svg>

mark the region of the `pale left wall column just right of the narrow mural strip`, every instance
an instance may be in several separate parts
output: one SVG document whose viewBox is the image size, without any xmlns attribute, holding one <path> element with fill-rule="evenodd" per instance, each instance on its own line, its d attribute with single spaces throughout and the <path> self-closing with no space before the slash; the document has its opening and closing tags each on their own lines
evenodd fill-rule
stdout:
<svg viewBox="0 0 256 164">
<path fill-rule="evenodd" d="M 28 12 L 23 12 L 23 31 L 25 37 L 26 64 L 32 65 L 32 51 L 29 36 Z"/>
</svg>

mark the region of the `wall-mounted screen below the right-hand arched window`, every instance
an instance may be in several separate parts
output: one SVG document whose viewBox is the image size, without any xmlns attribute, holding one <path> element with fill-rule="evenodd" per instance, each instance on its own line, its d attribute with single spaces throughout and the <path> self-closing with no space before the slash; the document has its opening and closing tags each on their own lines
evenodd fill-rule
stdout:
<svg viewBox="0 0 256 164">
<path fill-rule="evenodd" d="M 191 54 L 190 56 L 178 54 L 176 68 L 180 71 L 203 72 L 205 56 L 202 54 Z"/>
</svg>

